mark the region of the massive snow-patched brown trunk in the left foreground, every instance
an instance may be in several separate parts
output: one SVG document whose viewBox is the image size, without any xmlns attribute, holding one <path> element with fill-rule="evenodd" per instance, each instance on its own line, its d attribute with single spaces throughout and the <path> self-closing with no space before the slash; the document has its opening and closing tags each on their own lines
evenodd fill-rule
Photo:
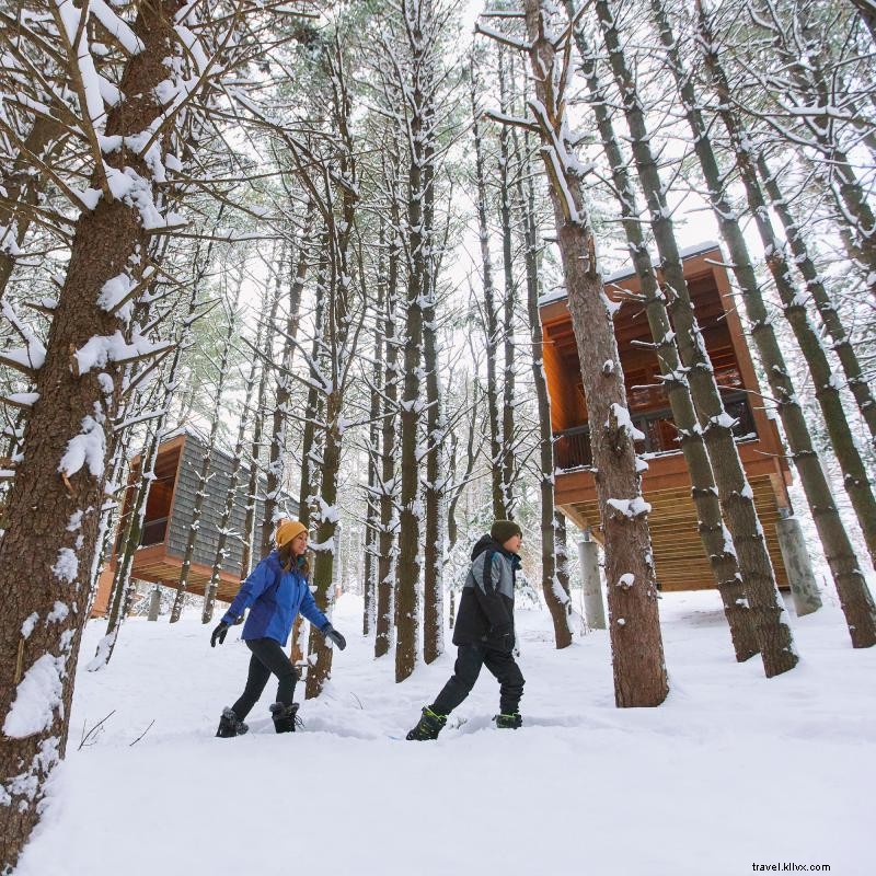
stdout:
<svg viewBox="0 0 876 876">
<path fill-rule="evenodd" d="M 155 89 L 168 77 L 162 59 L 175 54 L 173 18 L 182 5 L 181 0 L 140 5 L 134 32 L 143 48 L 125 65 L 119 83 L 125 96 L 108 112 L 107 137 L 134 136 L 158 118 L 161 106 Z M 158 146 L 163 153 L 166 142 Z M 149 169 L 136 151 L 123 147 L 105 154 L 104 161 L 117 170 L 131 168 L 146 181 L 143 195 L 154 194 Z M 95 188 L 101 187 L 97 174 L 91 181 Z M 0 542 L 0 666 L 15 668 L 12 683 L 0 685 L 0 871 L 15 865 L 37 822 L 45 783 L 65 753 L 77 647 L 104 502 L 103 453 L 122 391 L 122 364 L 107 362 L 103 378 L 96 369 L 80 376 L 71 368 L 70 351 L 95 335 L 126 331 L 125 321 L 100 307 L 97 297 L 108 280 L 131 265 L 135 254 L 140 255 L 138 269 L 142 270 L 148 250 L 148 234 L 131 203 L 104 196 L 94 209 L 82 212 L 74 226 L 45 362 L 36 373 L 39 399 L 25 427 L 24 456 L 7 503 L 8 527 Z M 72 461 L 71 442 L 91 448 L 87 468 Z M 27 586 L 37 580 L 39 587 Z M 24 636 L 22 626 L 31 616 L 36 623 Z M 14 721 L 13 703 L 19 693 L 24 695 L 20 683 L 44 672 L 56 691 L 45 719 Z"/>
</svg>

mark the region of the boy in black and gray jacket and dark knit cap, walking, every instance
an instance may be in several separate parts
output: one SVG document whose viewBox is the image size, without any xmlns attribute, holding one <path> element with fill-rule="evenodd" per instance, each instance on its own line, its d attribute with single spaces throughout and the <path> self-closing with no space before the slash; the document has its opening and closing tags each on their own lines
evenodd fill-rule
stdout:
<svg viewBox="0 0 876 876">
<path fill-rule="evenodd" d="M 453 644 L 459 647 L 453 675 L 435 702 L 423 708 L 407 739 L 437 739 L 447 716 L 471 693 L 482 666 L 499 682 L 496 726 L 522 725 L 518 710 L 523 676 L 514 659 L 514 586 L 522 538 L 514 520 L 496 520 L 489 534 L 474 545 L 453 626 Z"/>
</svg>

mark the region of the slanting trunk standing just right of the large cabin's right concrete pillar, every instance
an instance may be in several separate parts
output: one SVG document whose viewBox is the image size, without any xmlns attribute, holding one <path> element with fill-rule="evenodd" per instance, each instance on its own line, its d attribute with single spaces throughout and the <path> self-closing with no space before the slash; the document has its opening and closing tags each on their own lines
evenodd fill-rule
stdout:
<svg viewBox="0 0 876 876">
<path fill-rule="evenodd" d="M 710 25 L 702 12 L 699 26 L 703 38 L 707 38 L 711 33 Z M 707 48 L 703 49 L 703 51 L 710 76 L 721 96 L 726 93 L 726 77 L 723 76 L 723 70 L 714 50 Z M 729 125 L 728 130 L 735 140 L 738 155 L 742 145 L 738 140 L 739 132 L 736 131 L 734 134 L 735 119 L 723 111 L 722 115 L 726 116 L 724 122 L 725 125 Z M 707 141 L 705 142 L 707 146 Z M 703 154 L 705 155 L 705 153 Z M 714 192 L 711 197 L 721 223 L 722 233 L 725 234 L 725 240 L 727 240 L 730 247 L 734 272 L 742 289 L 742 300 L 752 325 L 752 336 L 758 345 L 758 353 L 763 362 L 770 388 L 777 400 L 779 414 L 782 417 L 782 425 L 791 446 L 792 458 L 800 475 L 800 482 L 811 508 L 818 534 L 825 546 L 825 554 L 830 564 L 837 591 L 840 596 L 840 603 L 849 624 L 852 644 L 855 647 L 869 647 L 876 644 L 876 608 L 874 608 L 873 598 L 867 590 L 854 550 L 840 519 L 827 476 L 812 447 L 811 436 L 797 402 L 779 342 L 770 323 L 745 240 L 738 223 L 733 218 L 734 214 L 729 209 L 721 187 L 714 155 L 711 155 L 711 161 L 706 160 L 703 163 L 703 170 L 710 188 Z M 758 210 L 758 214 L 761 212 L 765 214 L 765 209 Z M 764 218 L 765 216 L 758 216 L 759 221 Z"/>
</svg>

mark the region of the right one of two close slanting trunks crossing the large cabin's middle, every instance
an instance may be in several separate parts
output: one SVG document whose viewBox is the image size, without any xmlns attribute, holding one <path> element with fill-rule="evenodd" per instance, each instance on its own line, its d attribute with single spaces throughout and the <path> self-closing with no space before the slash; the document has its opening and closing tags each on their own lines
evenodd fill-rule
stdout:
<svg viewBox="0 0 876 876">
<path fill-rule="evenodd" d="M 724 408 L 712 362 L 696 324 L 666 189 L 649 146 L 643 105 L 621 47 L 614 14 L 607 0 L 597 0 L 596 12 L 621 93 L 633 158 L 648 204 L 679 353 L 688 369 L 691 395 L 705 438 L 724 519 L 737 553 L 763 668 L 769 678 L 793 669 L 797 664 L 791 627 L 779 596 L 766 540 L 754 508 L 753 493 L 734 440 L 733 418 Z"/>
</svg>

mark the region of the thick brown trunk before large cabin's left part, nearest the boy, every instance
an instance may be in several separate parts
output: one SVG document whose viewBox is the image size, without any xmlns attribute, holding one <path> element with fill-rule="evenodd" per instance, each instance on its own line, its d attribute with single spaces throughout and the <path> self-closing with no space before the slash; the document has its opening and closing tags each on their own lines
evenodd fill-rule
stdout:
<svg viewBox="0 0 876 876">
<path fill-rule="evenodd" d="M 659 705 L 669 692 L 657 588 L 648 533 L 648 506 L 629 423 L 614 326 L 607 307 L 589 217 L 574 162 L 563 139 L 566 119 L 556 49 L 545 33 L 546 3 L 526 0 L 529 57 L 538 104 L 531 103 L 551 180 L 563 274 L 589 420 L 597 497 L 606 533 L 614 699 L 619 706 Z M 611 368 L 602 364 L 611 362 Z"/>
</svg>

